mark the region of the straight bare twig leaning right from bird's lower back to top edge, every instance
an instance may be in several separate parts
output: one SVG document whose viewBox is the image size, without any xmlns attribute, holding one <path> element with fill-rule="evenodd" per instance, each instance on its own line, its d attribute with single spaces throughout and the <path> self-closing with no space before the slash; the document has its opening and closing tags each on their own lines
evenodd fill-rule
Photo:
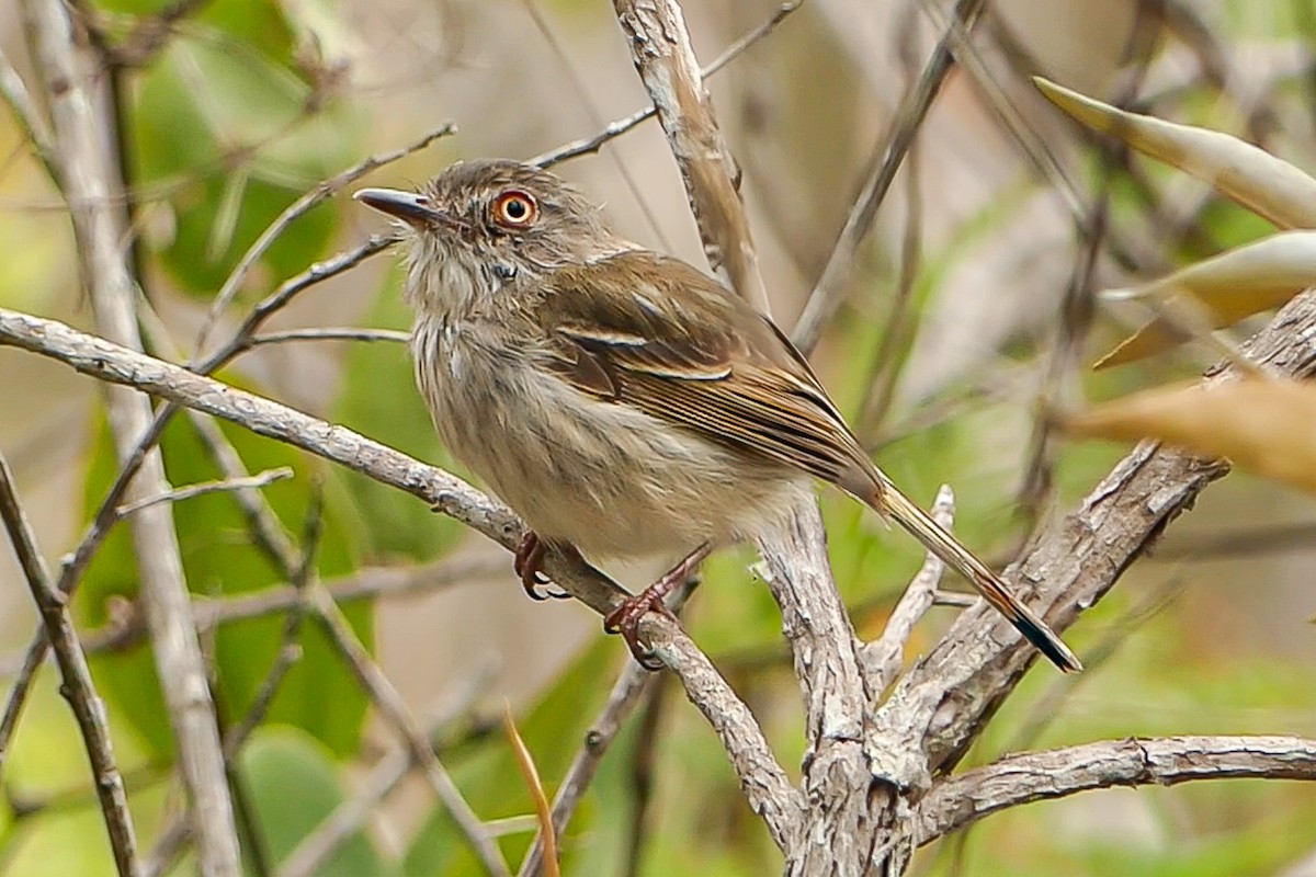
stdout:
<svg viewBox="0 0 1316 877">
<path fill-rule="evenodd" d="M 982 13 L 982 8 L 983 0 L 957 0 L 954 12 L 951 12 L 951 26 L 942 33 L 941 39 L 937 41 L 937 47 L 932 51 L 932 57 L 924 64 L 919 82 L 912 89 L 905 92 L 904 99 L 896 108 L 891 129 L 882 145 L 880 159 L 874 164 L 873 174 L 863 184 L 858 200 L 850 209 L 845 227 L 841 229 L 841 237 L 837 238 L 826 267 L 822 268 L 822 276 L 813 285 L 813 291 L 804 305 L 804 312 L 800 314 L 799 321 L 795 323 L 795 330 L 791 333 L 791 339 L 804 352 L 811 351 L 819 342 L 824 326 L 826 326 L 840 306 L 841 297 L 850 280 L 850 272 L 854 271 L 859 245 L 869 237 L 873 221 L 878 216 L 878 208 L 882 205 L 887 189 L 891 188 L 891 183 L 896 178 L 896 171 L 900 170 L 900 163 L 904 160 L 905 153 L 913 145 L 913 138 L 923 125 L 924 116 L 928 114 L 928 108 L 932 107 L 932 101 L 937 97 L 937 92 L 941 91 L 946 74 L 950 72 L 954 64 L 954 53 L 951 49 L 958 38 L 954 33 L 955 28 L 962 28 L 966 32 L 973 30 L 973 25 Z"/>
</svg>

